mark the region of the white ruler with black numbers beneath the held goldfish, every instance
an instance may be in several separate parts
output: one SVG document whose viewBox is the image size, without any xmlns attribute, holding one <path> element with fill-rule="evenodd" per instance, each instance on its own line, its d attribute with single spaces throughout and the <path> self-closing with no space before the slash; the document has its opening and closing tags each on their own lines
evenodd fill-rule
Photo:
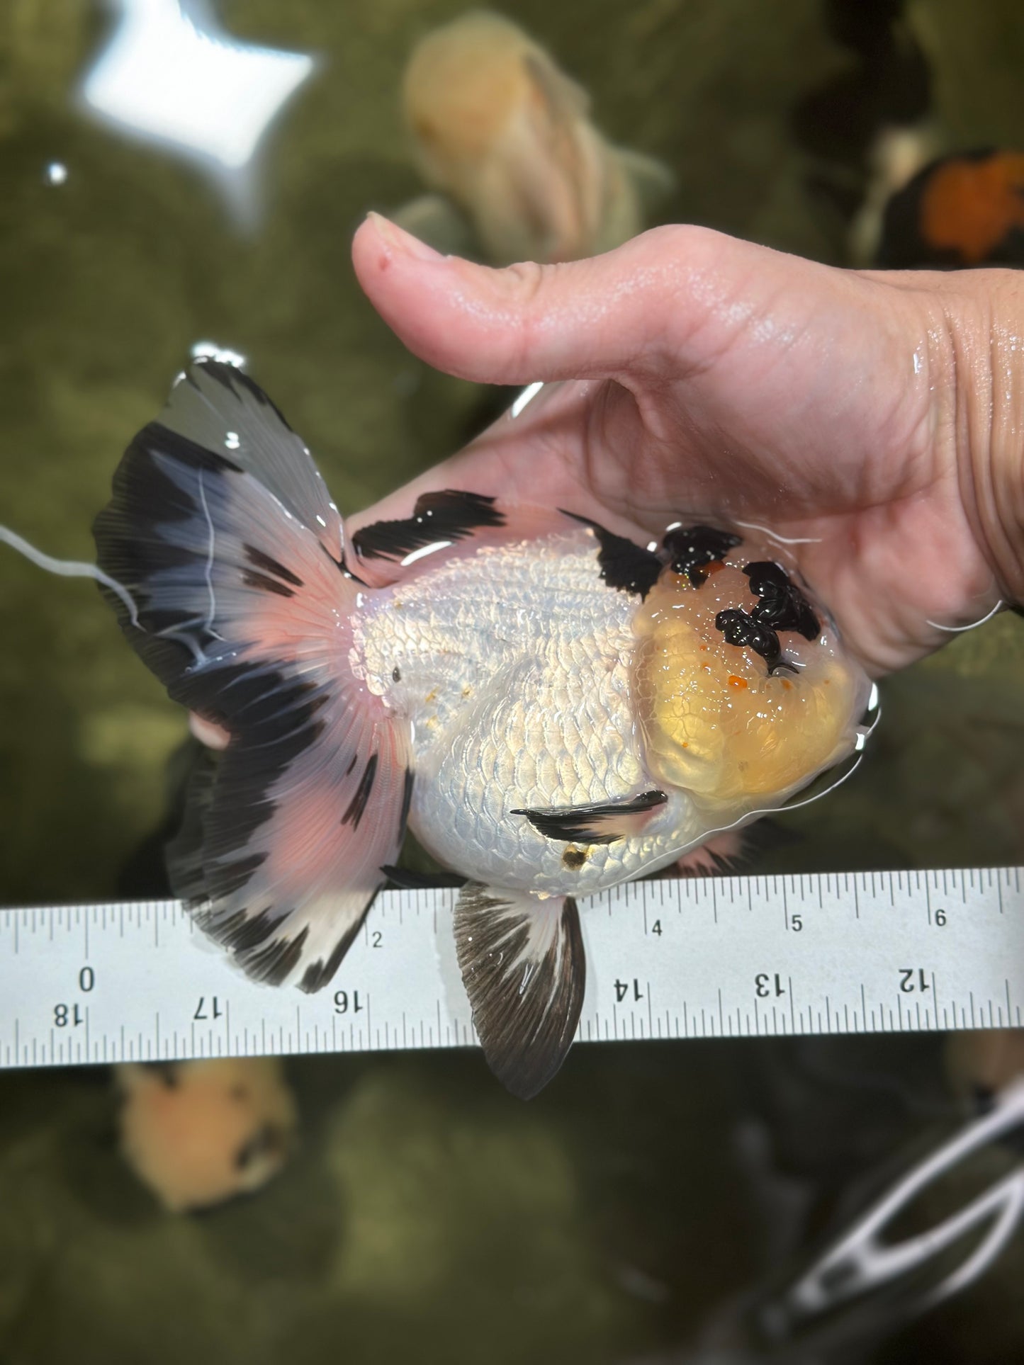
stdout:
<svg viewBox="0 0 1024 1365">
<path fill-rule="evenodd" d="M 0 1067 L 472 1044 L 453 897 L 378 897 L 318 995 L 176 901 L 0 910 Z M 1024 1024 L 1024 868 L 634 882 L 580 916 L 582 1041 Z"/>
</svg>

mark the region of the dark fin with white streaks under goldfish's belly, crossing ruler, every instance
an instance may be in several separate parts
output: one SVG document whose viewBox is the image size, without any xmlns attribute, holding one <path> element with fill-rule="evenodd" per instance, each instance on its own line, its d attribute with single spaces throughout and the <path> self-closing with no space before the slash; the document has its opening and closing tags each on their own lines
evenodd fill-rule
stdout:
<svg viewBox="0 0 1024 1365">
<path fill-rule="evenodd" d="M 565 1061 L 583 1009 L 576 902 L 468 882 L 455 946 L 487 1065 L 512 1095 L 531 1099 Z"/>
</svg>

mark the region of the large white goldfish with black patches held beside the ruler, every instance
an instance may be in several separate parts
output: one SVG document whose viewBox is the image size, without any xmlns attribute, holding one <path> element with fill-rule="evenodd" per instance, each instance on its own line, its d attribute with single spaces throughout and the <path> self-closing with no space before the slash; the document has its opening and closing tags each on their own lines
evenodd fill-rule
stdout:
<svg viewBox="0 0 1024 1365">
<path fill-rule="evenodd" d="M 134 438 L 94 535 L 128 642 L 227 738 L 168 854 L 201 928 L 255 980 L 318 991 L 411 829 L 466 879 L 463 981 L 520 1096 L 576 1031 L 578 900 L 863 744 L 870 680 L 769 539 L 674 523 L 639 545 L 466 489 L 350 536 L 309 448 L 220 360 Z"/>
</svg>

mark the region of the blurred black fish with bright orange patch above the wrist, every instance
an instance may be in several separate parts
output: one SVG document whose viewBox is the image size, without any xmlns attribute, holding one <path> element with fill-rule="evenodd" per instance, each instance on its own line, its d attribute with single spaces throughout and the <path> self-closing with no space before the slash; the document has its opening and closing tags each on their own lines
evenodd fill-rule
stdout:
<svg viewBox="0 0 1024 1365">
<path fill-rule="evenodd" d="M 878 265 L 1024 266 L 1024 152 L 941 157 L 892 197 Z"/>
</svg>

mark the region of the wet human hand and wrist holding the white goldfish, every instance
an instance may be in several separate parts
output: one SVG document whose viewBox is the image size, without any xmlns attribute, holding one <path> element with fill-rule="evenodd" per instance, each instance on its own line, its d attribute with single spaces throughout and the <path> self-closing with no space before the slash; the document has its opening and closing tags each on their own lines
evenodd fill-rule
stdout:
<svg viewBox="0 0 1024 1365">
<path fill-rule="evenodd" d="M 352 528 L 438 487 L 640 541 L 680 517 L 767 527 L 874 674 L 1024 599 L 1017 273 L 837 270 L 694 227 L 490 270 L 377 216 L 352 255 L 437 369 L 564 381 Z"/>
</svg>

